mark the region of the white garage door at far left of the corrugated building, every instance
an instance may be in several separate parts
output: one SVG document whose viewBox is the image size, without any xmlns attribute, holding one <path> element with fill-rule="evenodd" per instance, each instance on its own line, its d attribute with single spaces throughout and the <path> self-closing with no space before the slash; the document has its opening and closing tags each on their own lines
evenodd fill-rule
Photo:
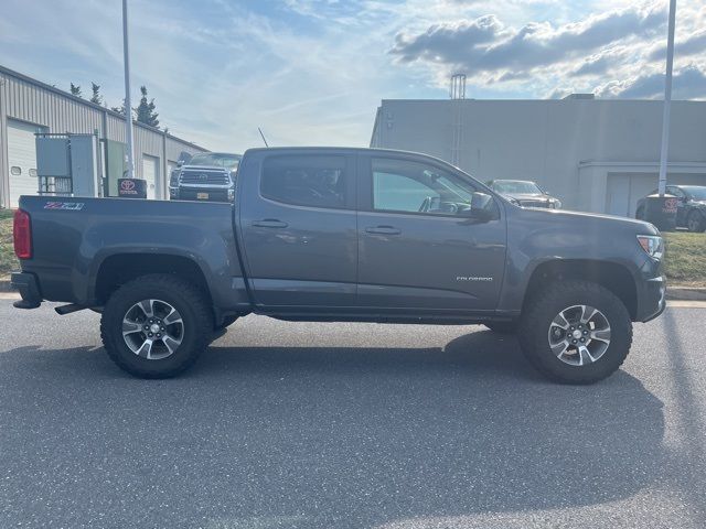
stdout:
<svg viewBox="0 0 706 529">
<path fill-rule="evenodd" d="M 20 195 L 36 195 L 35 132 L 42 128 L 8 119 L 8 173 L 10 174 L 10 207 L 18 207 Z"/>
</svg>

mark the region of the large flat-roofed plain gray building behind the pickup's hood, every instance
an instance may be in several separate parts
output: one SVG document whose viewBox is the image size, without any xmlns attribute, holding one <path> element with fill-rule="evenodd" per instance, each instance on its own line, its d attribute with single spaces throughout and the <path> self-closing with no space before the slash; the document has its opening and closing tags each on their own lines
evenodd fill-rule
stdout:
<svg viewBox="0 0 706 529">
<path fill-rule="evenodd" d="M 661 131 L 656 100 L 393 99 L 371 147 L 425 152 L 482 181 L 534 180 L 565 208 L 634 216 L 657 186 Z M 672 104 L 667 182 L 706 185 L 706 101 Z"/>
</svg>

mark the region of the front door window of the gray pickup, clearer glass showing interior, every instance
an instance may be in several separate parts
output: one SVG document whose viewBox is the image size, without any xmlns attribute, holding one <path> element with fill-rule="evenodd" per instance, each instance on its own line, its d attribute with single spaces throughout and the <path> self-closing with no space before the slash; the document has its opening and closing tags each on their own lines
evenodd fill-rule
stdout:
<svg viewBox="0 0 706 529">
<path fill-rule="evenodd" d="M 466 216 L 471 209 L 472 184 L 432 165 L 374 158 L 373 209 Z"/>
</svg>

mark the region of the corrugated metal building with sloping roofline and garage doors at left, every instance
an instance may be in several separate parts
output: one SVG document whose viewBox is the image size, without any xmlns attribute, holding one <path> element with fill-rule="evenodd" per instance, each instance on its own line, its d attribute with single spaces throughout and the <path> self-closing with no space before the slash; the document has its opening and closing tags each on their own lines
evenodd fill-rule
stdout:
<svg viewBox="0 0 706 529">
<path fill-rule="evenodd" d="M 148 198 L 168 198 L 171 169 L 182 151 L 205 149 L 133 122 L 136 176 L 148 181 Z M 125 118 L 99 105 L 0 66 L 0 207 L 17 207 L 36 194 L 36 132 L 97 133 L 125 142 Z"/>
</svg>

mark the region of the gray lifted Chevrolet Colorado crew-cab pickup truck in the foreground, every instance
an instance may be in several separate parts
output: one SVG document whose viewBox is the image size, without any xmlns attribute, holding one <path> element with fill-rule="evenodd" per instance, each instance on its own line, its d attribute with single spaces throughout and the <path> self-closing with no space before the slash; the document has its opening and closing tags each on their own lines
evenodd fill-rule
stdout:
<svg viewBox="0 0 706 529">
<path fill-rule="evenodd" d="M 253 149 L 234 204 L 23 196 L 14 239 L 15 306 L 100 312 L 110 358 L 146 378 L 263 314 L 483 324 L 547 377 L 588 384 L 665 306 L 652 225 L 518 207 L 409 152 Z"/>
</svg>

